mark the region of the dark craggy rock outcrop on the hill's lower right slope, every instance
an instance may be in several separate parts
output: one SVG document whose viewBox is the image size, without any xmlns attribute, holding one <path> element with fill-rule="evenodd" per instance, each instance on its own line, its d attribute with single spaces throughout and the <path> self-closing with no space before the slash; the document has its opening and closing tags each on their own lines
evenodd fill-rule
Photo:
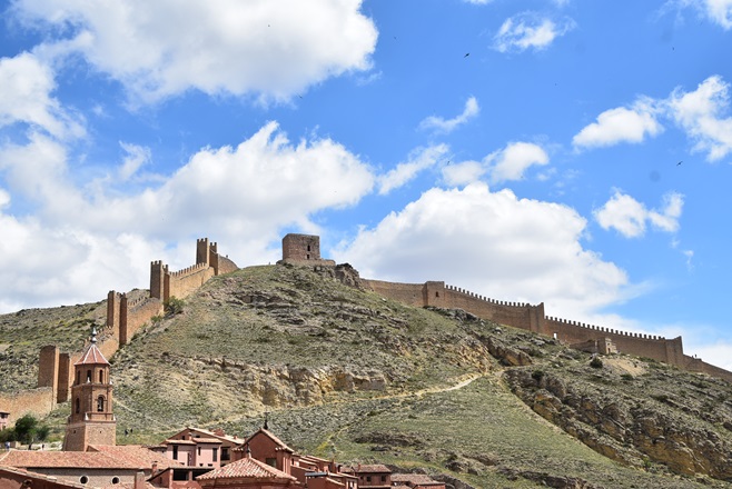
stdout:
<svg viewBox="0 0 732 489">
<path fill-rule="evenodd" d="M 661 462 L 679 473 L 732 479 L 732 445 L 683 412 L 659 410 L 551 372 L 510 369 L 505 377 L 535 412 L 606 457 L 637 467 Z"/>
</svg>

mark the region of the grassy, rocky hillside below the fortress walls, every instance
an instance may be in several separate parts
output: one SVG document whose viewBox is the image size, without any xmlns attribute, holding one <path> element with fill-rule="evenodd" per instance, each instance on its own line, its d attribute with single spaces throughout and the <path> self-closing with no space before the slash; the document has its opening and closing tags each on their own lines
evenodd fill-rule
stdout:
<svg viewBox="0 0 732 489">
<path fill-rule="evenodd" d="M 0 316 L 0 390 L 34 381 L 28 352 L 76 348 L 103 308 Z M 455 487 L 732 480 L 730 383 L 623 355 L 593 360 L 461 310 L 346 287 L 329 268 L 215 277 L 110 360 L 119 443 L 159 442 L 184 426 L 246 436 L 269 412 L 297 449 Z M 68 410 L 49 422 L 61 429 Z"/>
</svg>

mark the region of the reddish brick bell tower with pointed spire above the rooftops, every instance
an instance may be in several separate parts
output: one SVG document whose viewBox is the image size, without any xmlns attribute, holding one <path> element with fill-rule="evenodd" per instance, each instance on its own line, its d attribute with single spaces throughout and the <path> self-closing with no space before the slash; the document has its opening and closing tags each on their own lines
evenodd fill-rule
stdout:
<svg viewBox="0 0 732 489">
<path fill-rule="evenodd" d="M 109 362 L 97 348 L 97 330 L 81 359 L 73 363 L 71 416 L 66 425 L 63 450 L 86 451 L 90 445 L 116 445 Z"/>
</svg>

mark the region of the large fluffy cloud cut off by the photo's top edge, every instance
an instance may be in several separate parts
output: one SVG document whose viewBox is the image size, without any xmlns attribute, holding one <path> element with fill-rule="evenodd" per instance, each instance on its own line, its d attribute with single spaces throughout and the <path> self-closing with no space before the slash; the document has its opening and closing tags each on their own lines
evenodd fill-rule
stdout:
<svg viewBox="0 0 732 489">
<path fill-rule="evenodd" d="M 377 30 L 360 0 L 19 0 L 29 26 L 62 38 L 144 101 L 179 94 L 287 99 L 328 77 L 367 70 Z M 48 29 L 53 27 L 55 29 Z"/>
</svg>

